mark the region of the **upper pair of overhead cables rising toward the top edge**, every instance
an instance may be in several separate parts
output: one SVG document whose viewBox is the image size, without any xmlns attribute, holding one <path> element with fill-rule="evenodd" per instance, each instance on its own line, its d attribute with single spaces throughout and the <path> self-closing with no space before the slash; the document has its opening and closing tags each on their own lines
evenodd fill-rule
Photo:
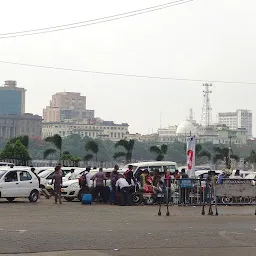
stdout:
<svg viewBox="0 0 256 256">
<path fill-rule="evenodd" d="M 87 20 L 87 21 L 70 23 L 70 24 L 66 24 L 66 25 L 53 26 L 53 27 L 48 27 L 48 28 L 32 29 L 32 30 L 24 30 L 24 31 L 4 33 L 4 34 L 0 34 L 0 39 L 12 38 L 12 37 L 21 37 L 21 36 L 30 36 L 30 35 L 51 33 L 51 32 L 57 32 L 57 31 L 79 28 L 79 27 L 91 26 L 91 25 L 96 25 L 96 24 L 99 24 L 99 23 L 105 23 L 105 22 L 109 22 L 109 21 L 113 21 L 113 20 L 119 20 L 119 19 L 124 19 L 124 18 L 129 18 L 129 17 L 141 15 L 141 14 L 144 14 L 144 13 L 154 12 L 154 11 L 166 9 L 166 8 L 169 8 L 169 7 L 172 7 L 172 6 L 186 4 L 186 3 L 189 3 L 189 2 L 193 2 L 193 1 L 194 0 L 176 0 L 176 1 L 169 2 L 169 3 L 166 3 L 166 4 L 162 4 L 162 5 L 156 5 L 156 6 L 152 6 L 152 7 L 148 7 L 148 8 L 139 9 L 139 10 L 136 10 L 136 11 L 125 12 L 125 13 L 121 13 L 121 14 L 106 16 L 106 17 Z"/>
</svg>

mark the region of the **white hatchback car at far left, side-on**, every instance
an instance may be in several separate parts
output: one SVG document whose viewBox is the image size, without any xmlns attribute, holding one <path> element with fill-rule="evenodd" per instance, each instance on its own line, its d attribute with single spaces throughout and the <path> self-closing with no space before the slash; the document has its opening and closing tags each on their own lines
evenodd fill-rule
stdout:
<svg viewBox="0 0 256 256">
<path fill-rule="evenodd" d="M 15 198 L 28 198 L 36 202 L 39 198 L 39 181 L 30 168 L 8 168 L 0 170 L 0 198 L 13 202 Z"/>
</svg>

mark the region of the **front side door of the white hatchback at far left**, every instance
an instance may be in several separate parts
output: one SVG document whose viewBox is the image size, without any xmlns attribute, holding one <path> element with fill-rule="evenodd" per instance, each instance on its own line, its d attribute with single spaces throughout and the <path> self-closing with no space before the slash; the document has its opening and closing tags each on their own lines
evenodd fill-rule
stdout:
<svg viewBox="0 0 256 256">
<path fill-rule="evenodd" d="M 17 171 L 9 171 L 3 177 L 2 197 L 17 197 L 19 192 Z"/>
</svg>

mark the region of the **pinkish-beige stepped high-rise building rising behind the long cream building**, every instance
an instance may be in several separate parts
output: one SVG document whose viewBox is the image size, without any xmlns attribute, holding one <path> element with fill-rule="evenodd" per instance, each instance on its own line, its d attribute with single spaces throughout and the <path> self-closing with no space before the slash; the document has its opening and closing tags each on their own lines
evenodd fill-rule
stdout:
<svg viewBox="0 0 256 256">
<path fill-rule="evenodd" d="M 86 109 L 86 96 L 77 92 L 58 92 L 43 110 L 44 122 L 87 121 L 94 118 L 94 110 Z"/>
</svg>

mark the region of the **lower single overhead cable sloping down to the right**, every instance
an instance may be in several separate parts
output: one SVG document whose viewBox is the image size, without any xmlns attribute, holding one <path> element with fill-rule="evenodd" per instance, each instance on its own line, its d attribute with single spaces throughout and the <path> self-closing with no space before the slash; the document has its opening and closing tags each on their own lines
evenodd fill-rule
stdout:
<svg viewBox="0 0 256 256">
<path fill-rule="evenodd" d="M 126 73 L 103 72 L 103 71 L 63 68 L 63 67 L 44 66 L 44 65 L 35 65 L 35 64 L 25 64 L 25 63 L 19 63 L 19 62 L 3 61 L 3 60 L 0 60 L 0 63 L 19 65 L 19 66 L 25 66 L 25 67 L 33 67 L 33 68 L 43 68 L 43 69 L 53 69 L 53 70 L 70 71 L 70 72 L 91 73 L 91 74 L 108 75 L 108 76 L 123 76 L 123 77 L 134 77 L 134 78 L 174 80 L 174 81 L 186 81 L 186 82 L 203 82 L 203 83 L 208 82 L 208 83 L 247 84 L 247 85 L 255 85 L 256 84 L 256 82 L 244 82 L 244 81 L 189 79 L 189 78 L 177 78 L 177 77 L 148 76 L 148 75 L 136 75 L 136 74 L 126 74 Z"/>
</svg>

